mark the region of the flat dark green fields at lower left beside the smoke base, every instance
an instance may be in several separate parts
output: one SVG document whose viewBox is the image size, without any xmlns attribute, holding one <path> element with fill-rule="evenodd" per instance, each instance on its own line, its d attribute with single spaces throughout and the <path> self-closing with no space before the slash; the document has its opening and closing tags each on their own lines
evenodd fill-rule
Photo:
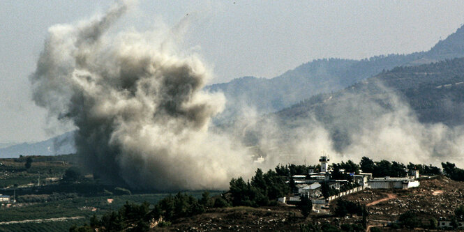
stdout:
<svg viewBox="0 0 464 232">
<path fill-rule="evenodd" d="M 0 231 L 68 231 L 70 226 L 88 223 L 93 215 L 103 215 L 118 210 L 128 202 L 147 201 L 154 205 L 170 193 L 133 190 L 136 194 L 117 192 L 117 186 L 93 180 L 89 173 L 75 182 L 61 180 L 65 171 L 75 167 L 74 155 L 54 157 L 34 156 L 29 169 L 24 167 L 27 157 L 0 159 L 0 194 L 13 196 L 16 203 L 0 206 Z M 85 176 L 85 177 L 84 177 Z M 40 178 L 40 185 L 38 185 Z M 113 194 L 114 192 L 114 194 Z M 176 194 L 177 192 L 172 192 Z M 211 192 L 211 195 L 219 192 Z M 188 192 L 200 198 L 202 191 Z M 108 203 L 112 199 L 112 203 Z M 21 222 L 32 219 L 83 217 L 57 222 Z M 13 224 L 1 222 L 20 221 Z"/>
</svg>

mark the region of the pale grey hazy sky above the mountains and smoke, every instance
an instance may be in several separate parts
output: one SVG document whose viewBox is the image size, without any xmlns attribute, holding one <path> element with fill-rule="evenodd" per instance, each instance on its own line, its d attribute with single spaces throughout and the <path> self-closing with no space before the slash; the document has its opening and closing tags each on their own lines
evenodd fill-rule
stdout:
<svg viewBox="0 0 464 232">
<path fill-rule="evenodd" d="M 39 141 L 45 110 L 28 76 L 59 23 L 103 12 L 113 1 L 0 1 L 0 143 Z M 464 1 L 140 1 L 119 27 L 190 26 L 182 47 L 214 68 L 212 82 L 275 77 L 318 58 L 361 59 L 430 49 L 464 23 Z M 187 15 L 188 14 L 188 15 Z"/>
</svg>

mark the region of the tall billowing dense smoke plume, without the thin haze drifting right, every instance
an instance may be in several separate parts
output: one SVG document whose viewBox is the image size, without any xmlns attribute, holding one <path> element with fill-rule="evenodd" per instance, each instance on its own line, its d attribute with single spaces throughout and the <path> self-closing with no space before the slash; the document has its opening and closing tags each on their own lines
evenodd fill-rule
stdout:
<svg viewBox="0 0 464 232">
<path fill-rule="evenodd" d="M 244 148 L 208 130 L 225 98 L 202 91 L 210 74 L 197 56 L 176 53 L 163 31 L 108 35 L 126 10 L 50 28 L 31 76 L 36 104 L 74 123 L 84 164 L 114 183 L 217 189 L 253 172 Z"/>
</svg>

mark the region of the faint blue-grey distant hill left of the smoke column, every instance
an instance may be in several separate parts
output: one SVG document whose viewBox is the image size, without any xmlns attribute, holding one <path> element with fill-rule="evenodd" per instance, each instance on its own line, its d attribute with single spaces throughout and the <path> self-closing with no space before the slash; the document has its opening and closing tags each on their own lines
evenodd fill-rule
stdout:
<svg viewBox="0 0 464 232">
<path fill-rule="evenodd" d="M 75 153 L 73 132 L 66 132 L 52 139 L 37 143 L 22 143 L 0 148 L 0 157 L 10 158 L 20 155 L 61 155 Z"/>
</svg>

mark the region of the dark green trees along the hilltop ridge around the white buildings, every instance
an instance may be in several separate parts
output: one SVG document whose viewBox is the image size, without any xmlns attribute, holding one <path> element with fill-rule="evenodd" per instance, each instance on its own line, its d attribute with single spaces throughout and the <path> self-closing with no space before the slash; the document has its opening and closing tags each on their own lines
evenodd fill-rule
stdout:
<svg viewBox="0 0 464 232">
<path fill-rule="evenodd" d="M 464 181 L 464 170 L 456 167 L 455 164 L 446 162 L 442 163 L 442 167 L 446 176 L 453 180 Z M 359 164 L 348 160 L 347 162 L 340 162 L 332 164 L 332 175 L 335 178 L 349 178 L 346 176 L 348 173 L 359 173 L 361 170 L 364 172 L 371 172 L 375 177 L 381 176 L 396 176 L 401 177 L 407 175 L 405 169 L 416 169 L 424 175 L 437 175 L 440 174 L 440 169 L 433 167 L 431 164 L 412 164 L 407 165 L 399 162 L 389 162 L 382 160 L 380 162 L 373 162 L 368 157 L 363 157 Z M 126 203 L 122 208 L 117 211 L 107 212 L 102 217 L 91 217 L 90 223 L 84 226 L 73 226 L 70 231 L 94 231 L 98 228 L 100 231 L 147 231 L 149 223 L 154 221 L 158 222 L 158 226 L 168 226 L 171 222 L 181 217 L 192 217 L 198 215 L 212 208 L 225 208 L 230 206 L 275 206 L 278 197 L 287 196 L 294 191 L 294 175 L 308 175 L 309 169 L 315 171 L 320 170 L 320 166 L 306 166 L 306 165 L 278 165 L 274 170 L 269 169 L 264 173 L 261 169 L 257 169 L 255 176 L 250 180 L 245 181 L 244 178 L 232 178 L 230 180 L 230 187 L 227 192 L 218 196 L 210 196 L 209 192 L 204 192 L 200 199 L 188 194 L 177 193 L 176 195 L 167 196 L 158 201 L 154 206 L 150 206 L 145 202 L 141 205 L 134 203 Z M 341 171 L 344 169 L 345 171 Z M 345 176 L 343 176 L 345 175 Z M 70 175 L 72 176 L 72 175 Z M 351 187 L 356 187 L 352 185 Z M 345 187 L 349 188 L 349 187 Z M 327 182 L 322 183 L 322 191 L 324 197 L 330 194 L 336 194 L 334 189 L 330 188 Z M 338 190 L 339 191 L 339 190 Z M 310 215 L 312 203 L 310 199 L 301 198 L 297 206 L 301 210 L 304 217 Z M 456 211 L 456 218 L 463 219 L 464 206 L 459 208 L 461 211 Z M 347 214 L 350 215 L 367 215 L 366 208 L 359 204 L 350 201 L 338 200 L 335 215 L 343 217 Z M 408 215 L 402 215 L 401 219 L 404 221 L 405 227 L 409 223 Z M 321 228 L 312 226 L 304 226 L 303 231 L 320 231 Z M 362 228 L 362 227 L 361 227 Z M 313 230 L 314 229 L 314 230 Z M 325 231 L 324 229 L 321 229 Z"/>
</svg>

